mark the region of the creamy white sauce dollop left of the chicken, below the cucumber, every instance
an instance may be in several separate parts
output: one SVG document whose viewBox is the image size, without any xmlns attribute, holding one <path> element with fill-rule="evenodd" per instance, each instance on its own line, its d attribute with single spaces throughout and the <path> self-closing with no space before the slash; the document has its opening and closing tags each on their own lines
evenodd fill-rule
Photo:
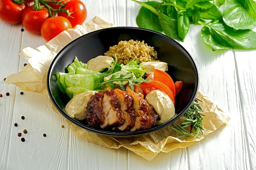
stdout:
<svg viewBox="0 0 256 170">
<path fill-rule="evenodd" d="M 97 91 L 86 91 L 75 95 L 65 106 L 66 112 L 70 117 L 83 120 L 86 118 L 85 108 L 92 95 L 97 93 Z"/>
</svg>

